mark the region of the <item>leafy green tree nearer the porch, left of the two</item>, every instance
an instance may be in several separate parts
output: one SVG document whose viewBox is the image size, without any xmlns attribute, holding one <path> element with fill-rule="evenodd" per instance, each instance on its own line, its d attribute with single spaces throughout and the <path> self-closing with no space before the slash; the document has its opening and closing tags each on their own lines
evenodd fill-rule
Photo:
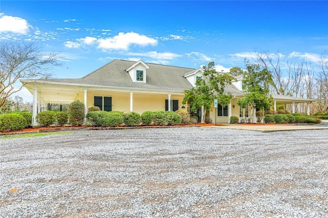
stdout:
<svg viewBox="0 0 328 218">
<path fill-rule="evenodd" d="M 227 106 L 232 99 L 230 93 L 224 91 L 227 84 L 231 84 L 233 76 L 228 73 L 218 73 L 214 69 L 214 62 L 210 62 L 208 66 L 203 66 L 204 73 L 201 78 L 196 80 L 196 87 L 185 90 L 185 97 L 182 103 L 191 101 L 191 110 L 197 112 L 202 107 L 201 122 L 204 122 L 204 110 L 209 110 L 214 99 L 222 106 Z"/>
</svg>

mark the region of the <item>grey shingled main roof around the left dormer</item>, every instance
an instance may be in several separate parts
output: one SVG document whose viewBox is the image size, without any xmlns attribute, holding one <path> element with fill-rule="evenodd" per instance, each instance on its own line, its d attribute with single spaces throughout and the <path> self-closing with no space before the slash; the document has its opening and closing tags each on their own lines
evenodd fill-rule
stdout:
<svg viewBox="0 0 328 218">
<path fill-rule="evenodd" d="M 183 75 L 195 69 L 147 63 L 149 66 L 147 83 L 136 83 L 132 82 L 129 73 L 126 72 L 134 63 L 135 61 L 115 59 L 80 79 L 49 79 L 47 81 L 151 90 L 183 91 L 192 88 Z"/>
</svg>

